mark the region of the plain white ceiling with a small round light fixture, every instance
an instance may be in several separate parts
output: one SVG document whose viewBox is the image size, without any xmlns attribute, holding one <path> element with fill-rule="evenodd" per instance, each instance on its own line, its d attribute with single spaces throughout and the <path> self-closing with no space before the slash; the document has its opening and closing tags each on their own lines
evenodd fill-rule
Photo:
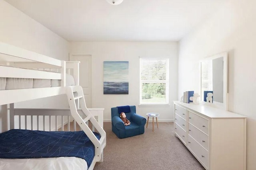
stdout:
<svg viewBox="0 0 256 170">
<path fill-rule="evenodd" d="M 179 41 L 225 0 L 6 0 L 70 42 Z"/>
</svg>

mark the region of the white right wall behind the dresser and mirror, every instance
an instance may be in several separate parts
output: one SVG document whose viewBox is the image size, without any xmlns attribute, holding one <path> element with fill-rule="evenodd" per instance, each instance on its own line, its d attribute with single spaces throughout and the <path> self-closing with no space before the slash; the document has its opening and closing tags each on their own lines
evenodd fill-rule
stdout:
<svg viewBox="0 0 256 170">
<path fill-rule="evenodd" d="M 229 110 L 248 116 L 247 170 L 256 167 L 256 1 L 228 0 L 180 41 L 178 96 L 200 92 L 199 59 L 228 51 Z"/>
</svg>

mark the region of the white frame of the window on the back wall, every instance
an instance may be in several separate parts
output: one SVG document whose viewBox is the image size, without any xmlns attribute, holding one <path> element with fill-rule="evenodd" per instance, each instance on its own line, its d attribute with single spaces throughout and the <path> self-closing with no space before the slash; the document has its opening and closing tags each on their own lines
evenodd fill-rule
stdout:
<svg viewBox="0 0 256 170">
<path fill-rule="evenodd" d="M 165 60 L 165 73 L 166 73 L 166 78 L 165 80 L 142 80 L 141 76 L 142 76 L 142 64 L 141 64 L 141 61 L 143 59 L 146 59 L 146 60 Z M 156 58 L 156 57 L 152 57 L 152 58 L 149 58 L 149 57 L 140 57 L 140 104 L 139 106 L 169 106 L 169 59 L 168 58 Z M 152 102 L 152 103 L 144 103 L 142 102 L 142 83 L 165 83 L 165 102 L 164 103 L 155 103 L 155 102 Z"/>
</svg>

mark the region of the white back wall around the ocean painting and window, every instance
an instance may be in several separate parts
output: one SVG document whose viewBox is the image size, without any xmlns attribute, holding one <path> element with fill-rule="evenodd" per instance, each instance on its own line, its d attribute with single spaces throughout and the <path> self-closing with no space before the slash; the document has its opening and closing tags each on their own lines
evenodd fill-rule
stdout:
<svg viewBox="0 0 256 170">
<path fill-rule="evenodd" d="M 135 105 L 137 113 L 160 113 L 159 121 L 173 120 L 172 101 L 177 99 L 178 43 L 177 42 L 98 42 L 70 43 L 70 54 L 92 55 L 92 108 L 105 108 L 104 121 L 111 119 L 111 107 Z M 138 107 L 139 56 L 170 59 L 170 107 Z M 103 94 L 103 62 L 129 61 L 129 94 Z"/>
</svg>

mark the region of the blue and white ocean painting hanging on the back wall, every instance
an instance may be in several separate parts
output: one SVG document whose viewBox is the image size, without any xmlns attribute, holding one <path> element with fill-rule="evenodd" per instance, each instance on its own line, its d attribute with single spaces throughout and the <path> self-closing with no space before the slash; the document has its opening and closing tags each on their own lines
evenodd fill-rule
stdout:
<svg viewBox="0 0 256 170">
<path fill-rule="evenodd" d="M 104 61 L 104 94 L 129 94 L 128 61 Z"/>
</svg>

